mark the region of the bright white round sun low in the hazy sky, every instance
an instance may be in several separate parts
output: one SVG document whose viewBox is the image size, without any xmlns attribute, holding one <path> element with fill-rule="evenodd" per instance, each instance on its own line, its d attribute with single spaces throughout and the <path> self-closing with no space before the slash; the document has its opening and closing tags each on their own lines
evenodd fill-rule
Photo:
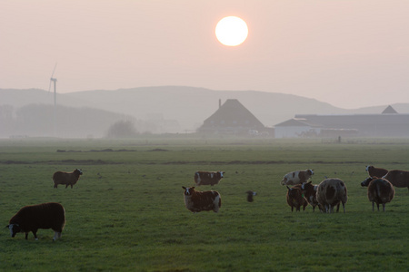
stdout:
<svg viewBox="0 0 409 272">
<path fill-rule="evenodd" d="M 236 16 L 224 17 L 215 28 L 217 40 L 227 46 L 242 44 L 247 38 L 247 34 L 247 24 Z"/>
</svg>

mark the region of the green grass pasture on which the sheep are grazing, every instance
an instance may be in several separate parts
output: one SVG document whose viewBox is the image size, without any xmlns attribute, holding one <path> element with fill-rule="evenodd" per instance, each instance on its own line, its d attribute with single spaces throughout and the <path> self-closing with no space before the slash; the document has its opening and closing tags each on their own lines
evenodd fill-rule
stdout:
<svg viewBox="0 0 409 272">
<path fill-rule="evenodd" d="M 0 270 L 407 270 L 408 189 L 373 212 L 360 186 L 367 164 L 409 170 L 409 140 L 2 140 L 0 221 L 55 201 L 66 225 L 56 242 L 51 229 L 36 241 L 3 228 Z M 74 189 L 53 188 L 55 170 L 75 168 L 84 175 Z M 345 214 L 291 212 L 280 181 L 304 169 L 314 169 L 313 183 L 344 180 Z M 185 209 L 182 186 L 195 185 L 195 170 L 225 171 L 212 188 L 222 196 L 218 213 Z M 248 189 L 257 192 L 253 203 Z"/>
</svg>

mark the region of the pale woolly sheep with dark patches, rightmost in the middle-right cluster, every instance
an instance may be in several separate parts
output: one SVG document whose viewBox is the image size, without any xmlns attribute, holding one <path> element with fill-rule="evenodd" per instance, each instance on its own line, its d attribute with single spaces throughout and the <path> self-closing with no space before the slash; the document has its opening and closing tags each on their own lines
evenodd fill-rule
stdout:
<svg viewBox="0 0 409 272">
<path fill-rule="evenodd" d="M 338 212 L 340 203 L 343 204 L 345 213 L 345 203 L 348 195 L 344 181 L 339 179 L 321 181 L 316 192 L 316 199 L 327 213 L 333 212 L 335 205 L 337 206 L 336 212 Z"/>
</svg>

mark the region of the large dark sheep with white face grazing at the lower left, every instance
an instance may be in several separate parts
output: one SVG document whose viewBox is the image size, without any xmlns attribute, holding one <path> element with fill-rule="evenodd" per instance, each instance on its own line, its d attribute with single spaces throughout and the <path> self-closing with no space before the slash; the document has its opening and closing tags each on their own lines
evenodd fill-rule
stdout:
<svg viewBox="0 0 409 272">
<path fill-rule="evenodd" d="M 10 219 L 9 225 L 5 228 L 10 229 L 12 238 L 18 232 L 25 232 L 25 239 L 27 239 L 28 233 L 31 231 L 36 240 L 38 240 L 38 228 L 51 228 L 55 231 L 53 240 L 56 240 L 61 238 L 64 226 L 64 207 L 59 203 L 49 202 L 23 207 Z"/>
</svg>

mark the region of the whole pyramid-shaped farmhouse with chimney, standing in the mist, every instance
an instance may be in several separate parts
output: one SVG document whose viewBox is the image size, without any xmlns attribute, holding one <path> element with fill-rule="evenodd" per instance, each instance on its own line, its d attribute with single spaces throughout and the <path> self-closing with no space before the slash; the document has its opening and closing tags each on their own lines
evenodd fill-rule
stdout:
<svg viewBox="0 0 409 272">
<path fill-rule="evenodd" d="M 217 111 L 197 131 L 207 134 L 257 135 L 265 133 L 266 129 L 241 102 L 228 99 L 223 105 L 219 101 Z"/>
</svg>

